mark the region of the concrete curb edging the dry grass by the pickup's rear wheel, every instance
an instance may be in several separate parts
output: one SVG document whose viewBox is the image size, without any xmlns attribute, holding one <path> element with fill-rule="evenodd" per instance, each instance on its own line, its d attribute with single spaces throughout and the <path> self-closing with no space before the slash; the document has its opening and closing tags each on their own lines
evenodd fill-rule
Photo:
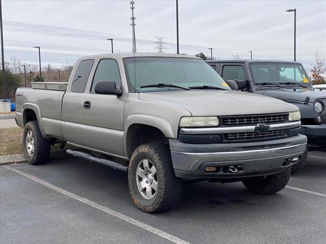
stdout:
<svg viewBox="0 0 326 244">
<path fill-rule="evenodd" d="M 69 159 L 71 155 L 66 154 L 66 150 L 51 151 L 49 160 Z M 0 166 L 8 164 L 22 164 L 26 163 L 25 156 L 23 154 L 5 155 L 0 156 Z"/>
</svg>

